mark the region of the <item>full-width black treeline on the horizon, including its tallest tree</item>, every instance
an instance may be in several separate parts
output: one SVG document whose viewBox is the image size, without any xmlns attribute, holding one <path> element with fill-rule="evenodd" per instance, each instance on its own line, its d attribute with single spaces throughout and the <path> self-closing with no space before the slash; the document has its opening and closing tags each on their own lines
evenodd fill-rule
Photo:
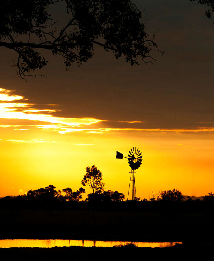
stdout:
<svg viewBox="0 0 214 261">
<path fill-rule="evenodd" d="M 67 187 L 62 191 L 56 190 L 54 185 L 45 188 L 29 190 L 26 195 L 6 196 L 0 199 L 1 209 L 71 209 L 91 211 L 139 211 L 139 212 L 213 212 L 214 194 L 211 192 L 203 200 L 192 200 L 190 196 L 184 200 L 184 195 L 177 189 L 152 192 L 152 197 L 135 200 L 125 200 L 123 193 L 105 191 L 102 173 L 95 165 L 86 168 L 86 174 L 81 181 L 83 186 L 92 189 L 85 200 L 84 188 L 73 191 Z M 63 193 L 62 193 L 63 192 Z M 125 200 L 125 201 L 124 201 Z"/>
</svg>

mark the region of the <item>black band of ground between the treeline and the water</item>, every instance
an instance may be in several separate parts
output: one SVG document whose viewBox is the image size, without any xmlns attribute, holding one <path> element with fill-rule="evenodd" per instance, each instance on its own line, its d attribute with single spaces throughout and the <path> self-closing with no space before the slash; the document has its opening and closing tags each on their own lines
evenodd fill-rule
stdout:
<svg viewBox="0 0 214 261">
<path fill-rule="evenodd" d="M 213 213 L 0 210 L 0 239 L 214 242 Z"/>
</svg>

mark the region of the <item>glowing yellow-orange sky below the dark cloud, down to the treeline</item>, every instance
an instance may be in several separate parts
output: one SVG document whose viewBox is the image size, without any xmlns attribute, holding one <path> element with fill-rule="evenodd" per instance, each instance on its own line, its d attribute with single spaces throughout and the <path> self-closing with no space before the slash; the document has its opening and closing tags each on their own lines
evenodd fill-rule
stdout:
<svg viewBox="0 0 214 261">
<path fill-rule="evenodd" d="M 115 157 L 116 150 L 127 156 L 131 146 L 143 152 L 143 164 L 136 170 L 138 197 L 149 198 L 151 190 L 173 188 L 195 196 L 212 191 L 211 127 L 144 129 L 136 128 L 130 119 L 129 128 L 105 128 L 103 119 L 55 117 L 56 105 L 35 109 L 28 97 L 3 88 L 0 99 L 1 196 L 49 184 L 76 190 L 85 168 L 95 164 L 103 173 L 106 189 L 127 197 L 129 165 L 126 159 Z M 87 187 L 86 191 L 90 193 Z"/>
</svg>

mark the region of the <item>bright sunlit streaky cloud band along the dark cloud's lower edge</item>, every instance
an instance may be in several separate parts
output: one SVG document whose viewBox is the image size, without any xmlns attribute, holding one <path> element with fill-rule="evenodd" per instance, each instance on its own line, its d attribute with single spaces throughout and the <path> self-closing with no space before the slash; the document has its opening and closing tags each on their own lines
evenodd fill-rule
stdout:
<svg viewBox="0 0 214 261">
<path fill-rule="evenodd" d="M 18 102 L 17 102 L 18 101 Z M 13 94 L 13 91 L 0 88 L 0 128 L 14 128 L 14 130 L 27 131 L 37 128 L 43 131 L 55 131 L 59 134 L 72 132 L 85 132 L 88 134 L 104 134 L 121 131 L 144 131 L 160 133 L 205 133 L 213 132 L 214 126 L 200 126 L 201 123 L 190 123 L 189 128 L 164 128 L 162 123 L 143 122 L 135 120 L 109 121 L 96 118 L 65 118 L 55 116 L 59 109 L 57 104 L 31 104 L 23 96 Z M 51 106 L 51 107 L 50 107 Z M 14 125 L 12 124 L 14 122 Z M 2 124 L 5 123 L 5 124 Z M 20 124 L 21 123 L 21 124 Z M 145 126 L 147 123 L 147 126 Z M 15 125 L 16 124 L 16 125 Z M 19 124 L 19 125 L 18 125 Z M 130 124 L 135 128 L 130 128 Z M 159 128 L 156 128 L 158 124 Z M 192 125 L 194 124 L 194 125 Z M 207 122 L 207 124 L 212 124 Z M 197 126 L 196 126 L 197 125 Z M 168 127 L 168 126 L 167 126 Z M 10 140 L 20 142 L 20 140 Z M 30 141 L 23 141 L 30 143 Z"/>
</svg>

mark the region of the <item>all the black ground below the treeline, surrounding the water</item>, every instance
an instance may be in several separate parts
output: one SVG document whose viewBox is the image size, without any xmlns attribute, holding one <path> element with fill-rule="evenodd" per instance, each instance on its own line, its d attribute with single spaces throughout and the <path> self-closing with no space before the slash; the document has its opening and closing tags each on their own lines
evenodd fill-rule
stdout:
<svg viewBox="0 0 214 261">
<path fill-rule="evenodd" d="M 214 214 L 0 210 L 0 239 L 183 242 L 168 248 L 0 248 L 0 260 L 214 260 Z"/>
</svg>

